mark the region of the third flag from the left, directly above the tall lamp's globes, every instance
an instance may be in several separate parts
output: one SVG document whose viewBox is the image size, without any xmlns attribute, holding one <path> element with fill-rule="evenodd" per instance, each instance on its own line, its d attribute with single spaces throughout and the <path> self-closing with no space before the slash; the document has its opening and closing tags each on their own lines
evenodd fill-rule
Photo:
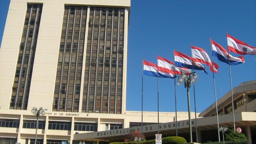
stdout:
<svg viewBox="0 0 256 144">
<path fill-rule="evenodd" d="M 205 67 L 200 62 L 193 61 L 191 57 L 181 52 L 174 51 L 174 61 L 175 66 L 184 67 L 187 69 L 203 70 L 204 73 L 207 74 Z"/>
</svg>

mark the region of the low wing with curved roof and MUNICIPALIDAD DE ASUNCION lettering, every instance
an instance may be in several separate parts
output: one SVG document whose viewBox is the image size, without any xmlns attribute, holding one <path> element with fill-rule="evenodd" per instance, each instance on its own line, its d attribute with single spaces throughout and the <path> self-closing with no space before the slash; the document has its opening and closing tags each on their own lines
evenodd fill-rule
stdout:
<svg viewBox="0 0 256 144">
<path fill-rule="evenodd" d="M 217 101 L 218 108 L 218 121 L 219 126 L 228 127 L 233 130 L 235 122 L 236 128 L 241 128 L 242 132 L 246 135 L 249 144 L 256 143 L 256 80 L 247 81 L 239 86 L 233 88 L 234 100 L 234 118 L 233 109 L 230 104 L 232 103 L 231 91 L 227 92 Z M 192 139 L 193 142 L 206 143 L 207 141 L 218 141 L 218 124 L 217 124 L 217 111 L 215 103 L 201 112 L 197 118 L 198 138 L 195 132 L 195 118 L 192 118 Z M 175 121 L 160 124 L 160 133 L 165 136 L 175 136 L 176 127 L 178 129 L 178 136 L 182 136 L 189 141 L 189 121 L 187 119 L 177 118 L 177 125 Z M 120 130 L 107 130 L 101 132 L 81 133 L 74 135 L 76 141 L 122 141 L 128 132 L 132 130 L 141 131 L 141 127 L 130 127 Z M 220 139 L 222 141 L 222 133 Z M 143 126 L 143 134 L 148 138 L 154 139 L 157 134 L 157 124 L 150 124 Z"/>
</svg>

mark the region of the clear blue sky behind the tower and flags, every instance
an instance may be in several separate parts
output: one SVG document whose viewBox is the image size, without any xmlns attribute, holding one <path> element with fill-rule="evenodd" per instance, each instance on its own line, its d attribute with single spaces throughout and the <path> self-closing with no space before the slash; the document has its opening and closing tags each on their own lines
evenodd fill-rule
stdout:
<svg viewBox="0 0 256 144">
<path fill-rule="evenodd" d="M 157 63 L 157 55 L 173 61 L 173 49 L 191 56 L 190 43 L 210 54 L 209 37 L 227 49 L 226 31 L 256 46 L 255 0 L 131 0 L 128 30 L 127 110 L 141 110 L 142 59 Z M 0 0 L 0 41 L 9 0 Z M 233 54 L 233 56 L 238 56 Z M 231 66 L 233 87 L 256 79 L 256 55 L 244 55 L 245 63 Z M 230 90 L 229 68 L 215 74 L 217 98 Z M 202 112 L 215 102 L 212 73 L 198 71 L 196 109 Z M 144 76 L 144 111 L 157 111 L 157 78 Z M 194 96 L 191 89 L 191 109 Z M 174 80 L 159 79 L 160 111 L 174 112 Z M 177 86 L 177 110 L 187 111 L 184 86 Z"/>
</svg>

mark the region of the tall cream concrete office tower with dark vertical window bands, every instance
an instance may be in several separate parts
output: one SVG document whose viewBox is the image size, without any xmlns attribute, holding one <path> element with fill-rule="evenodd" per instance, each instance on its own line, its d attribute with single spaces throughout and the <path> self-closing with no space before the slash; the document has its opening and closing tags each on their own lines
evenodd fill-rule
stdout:
<svg viewBox="0 0 256 144">
<path fill-rule="evenodd" d="M 1 108 L 124 113 L 129 9 L 130 0 L 12 0 Z"/>
</svg>

